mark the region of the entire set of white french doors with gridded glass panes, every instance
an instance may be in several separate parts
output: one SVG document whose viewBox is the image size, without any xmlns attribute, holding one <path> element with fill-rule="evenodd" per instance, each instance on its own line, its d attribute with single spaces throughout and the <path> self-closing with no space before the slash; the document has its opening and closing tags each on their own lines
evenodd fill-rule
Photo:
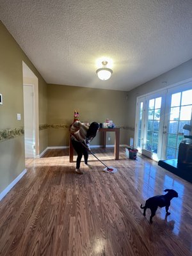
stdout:
<svg viewBox="0 0 192 256">
<path fill-rule="evenodd" d="M 192 83 L 139 97 L 136 109 L 134 147 L 156 161 L 175 159 L 185 131 L 191 124 Z"/>
</svg>

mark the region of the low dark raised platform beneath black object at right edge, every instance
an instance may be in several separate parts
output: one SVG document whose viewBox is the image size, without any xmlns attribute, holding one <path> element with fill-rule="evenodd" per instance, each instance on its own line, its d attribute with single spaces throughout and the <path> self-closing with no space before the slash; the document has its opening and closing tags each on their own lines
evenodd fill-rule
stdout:
<svg viewBox="0 0 192 256">
<path fill-rule="evenodd" d="M 182 166 L 178 166 L 177 159 L 159 160 L 158 165 L 192 183 L 191 166 L 185 166 L 184 164 Z"/>
</svg>

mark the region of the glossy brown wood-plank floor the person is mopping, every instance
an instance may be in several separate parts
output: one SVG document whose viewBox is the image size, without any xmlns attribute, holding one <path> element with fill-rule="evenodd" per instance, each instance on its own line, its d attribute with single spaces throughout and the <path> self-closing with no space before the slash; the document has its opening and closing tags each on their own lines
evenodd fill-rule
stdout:
<svg viewBox="0 0 192 256">
<path fill-rule="evenodd" d="M 0 202 L 0 255 L 172 256 L 192 255 L 192 184 L 150 159 L 113 160 L 113 148 L 93 149 L 118 169 L 103 172 L 92 155 L 83 175 L 68 150 L 27 159 L 28 172 Z M 153 223 L 141 204 L 175 189 L 170 216 L 158 208 Z"/>
</svg>

